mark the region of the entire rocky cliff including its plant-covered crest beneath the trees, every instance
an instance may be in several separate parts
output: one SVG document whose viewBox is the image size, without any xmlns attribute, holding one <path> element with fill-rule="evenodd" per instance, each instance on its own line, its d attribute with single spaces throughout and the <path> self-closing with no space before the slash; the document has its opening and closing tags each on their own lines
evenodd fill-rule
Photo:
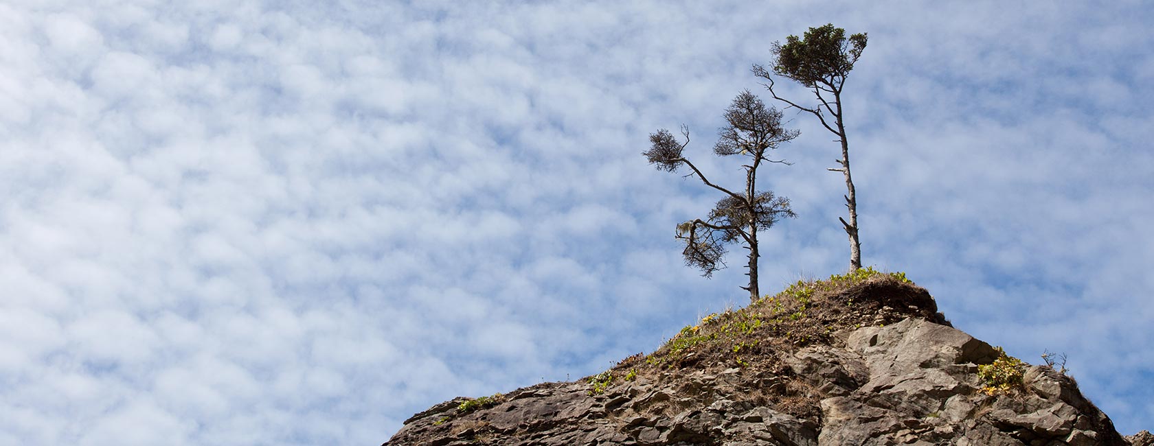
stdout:
<svg viewBox="0 0 1154 446">
<path fill-rule="evenodd" d="M 1149 445 L 1070 377 L 950 326 L 901 274 L 799 282 L 574 383 L 457 398 L 402 445 Z"/>
</svg>

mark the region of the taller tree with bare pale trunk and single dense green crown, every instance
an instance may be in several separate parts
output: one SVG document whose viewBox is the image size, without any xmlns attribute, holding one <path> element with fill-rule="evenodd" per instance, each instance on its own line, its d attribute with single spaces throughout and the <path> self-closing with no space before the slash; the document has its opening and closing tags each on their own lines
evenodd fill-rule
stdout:
<svg viewBox="0 0 1154 446">
<path fill-rule="evenodd" d="M 834 28 L 833 24 L 810 28 L 805 31 L 805 37 L 799 39 L 797 36 L 786 38 L 785 45 L 780 41 L 773 43 L 773 74 L 790 78 L 817 97 L 817 105 L 803 107 L 788 99 L 781 98 L 773 90 L 773 77 L 759 65 L 754 65 L 754 74 L 770 81 L 765 88 L 770 90 L 773 99 L 780 100 L 802 112 L 817 116 L 818 121 L 826 130 L 838 136 L 841 143 L 841 159 L 834 160 L 840 167 L 827 168 L 831 172 L 841 172 L 846 177 L 846 207 L 849 210 L 849 221 L 838 217 L 841 226 L 849 236 L 849 269 L 856 271 L 862 267 L 861 241 L 857 237 L 857 195 L 854 190 L 854 180 L 849 174 L 849 142 L 846 139 L 845 116 L 841 107 L 841 89 L 846 84 L 846 77 L 854 69 L 854 62 L 865 50 L 865 33 L 856 33 L 846 38 L 846 30 Z M 788 107 L 787 107 L 788 108 Z M 832 122 L 830 120 L 832 118 Z"/>
</svg>

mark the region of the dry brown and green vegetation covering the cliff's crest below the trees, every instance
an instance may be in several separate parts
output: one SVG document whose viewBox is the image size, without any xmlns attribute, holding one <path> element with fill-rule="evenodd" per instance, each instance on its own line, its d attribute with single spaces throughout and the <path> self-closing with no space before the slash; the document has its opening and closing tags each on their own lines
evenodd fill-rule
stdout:
<svg viewBox="0 0 1154 446">
<path fill-rule="evenodd" d="M 870 267 L 824 280 L 802 280 L 743 309 L 706 315 L 682 327 L 655 351 L 627 357 L 606 373 L 586 379 L 590 393 L 595 394 L 620 384 L 622 376 L 660 381 L 677 370 L 722 373 L 741 369 L 743 376 L 765 381 L 760 391 L 740 399 L 809 416 L 814 414 L 808 410 L 818 407 L 818 393 L 805 387 L 805 378 L 784 362 L 784 354 L 814 343 L 834 346 L 845 342 L 855 328 L 907 317 L 946 323 L 929 293 L 904 273 Z"/>
</svg>

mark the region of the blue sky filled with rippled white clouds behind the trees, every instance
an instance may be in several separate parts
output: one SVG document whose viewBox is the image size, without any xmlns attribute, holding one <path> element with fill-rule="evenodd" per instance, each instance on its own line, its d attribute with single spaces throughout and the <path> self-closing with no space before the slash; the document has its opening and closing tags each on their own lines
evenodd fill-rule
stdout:
<svg viewBox="0 0 1154 446">
<path fill-rule="evenodd" d="M 846 83 L 862 260 L 1154 429 L 1154 10 L 1140 1 L 0 3 L 0 445 L 373 445 L 742 307 L 676 224 L 770 47 Z M 781 95 L 809 100 L 788 81 Z M 812 116 L 760 187 L 760 287 L 848 266 Z"/>
</svg>

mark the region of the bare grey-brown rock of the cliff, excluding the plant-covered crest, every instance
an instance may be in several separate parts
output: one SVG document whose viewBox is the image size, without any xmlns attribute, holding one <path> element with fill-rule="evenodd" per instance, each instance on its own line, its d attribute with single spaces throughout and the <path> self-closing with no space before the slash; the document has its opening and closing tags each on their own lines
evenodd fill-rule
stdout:
<svg viewBox="0 0 1154 446">
<path fill-rule="evenodd" d="M 407 419 L 384 445 L 1154 443 L 1149 433 L 1123 439 L 1070 377 L 1047 366 L 1027 366 L 1022 384 L 1009 392 L 983 392 L 977 368 L 1001 353 L 936 319 L 906 317 L 841 330 L 827 342 L 782 343 L 756 361 L 736 360 L 737 366 L 726 366 L 733 365 L 728 360 L 681 366 L 682 356 L 653 366 L 661 363 L 642 364 L 637 356 L 591 381 L 520 388 L 477 410 L 460 410 L 469 399 L 447 401 Z M 714 333 L 728 333 L 726 326 Z M 670 348 L 653 355 L 662 351 L 685 354 Z"/>
</svg>

